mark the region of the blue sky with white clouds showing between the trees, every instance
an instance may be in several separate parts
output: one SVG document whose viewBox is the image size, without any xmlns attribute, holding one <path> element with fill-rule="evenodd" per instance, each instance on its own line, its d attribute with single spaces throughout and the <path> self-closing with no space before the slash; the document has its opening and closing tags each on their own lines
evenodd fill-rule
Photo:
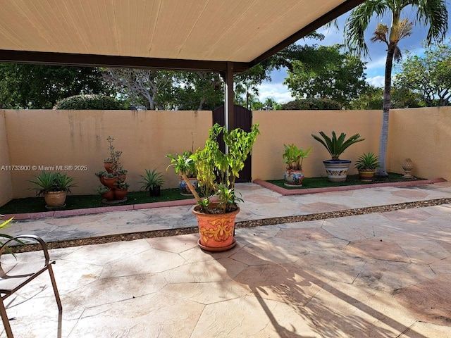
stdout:
<svg viewBox="0 0 451 338">
<path fill-rule="evenodd" d="M 451 5 L 447 4 L 448 8 L 448 25 L 450 28 L 448 29 L 447 39 L 451 37 Z M 345 19 L 347 18 L 347 14 L 344 14 L 338 18 L 338 25 L 340 27 L 340 31 L 336 30 L 334 27 L 325 28 L 322 27 L 318 30 L 318 32 L 322 33 L 326 36 L 323 41 L 318 40 L 309 40 L 309 39 L 301 39 L 299 40 L 299 44 L 318 44 L 319 46 L 331 46 L 333 44 L 342 44 L 343 42 L 343 34 L 342 29 L 345 23 Z M 416 12 L 414 11 L 404 11 L 402 13 L 402 18 L 408 17 L 410 20 L 415 21 Z M 371 21 L 369 29 L 366 31 L 366 44 L 369 47 L 369 58 L 362 58 L 363 61 L 366 61 L 366 82 L 369 84 L 373 84 L 377 87 L 383 87 L 383 74 L 385 70 L 385 57 L 386 50 L 385 44 L 383 43 L 371 43 L 369 41 L 373 31 L 376 28 L 378 22 L 385 23 L 390 25 L 390 20 L 377 20 L 376 18 Z M 422 54 L 424 49 L 421 46 L 421 42 L 426 39 L 427 27 L 422 27 L 420 25 L 416 25 L 414 27 L 414 31 L 410 37 L 404 38 L 400 41 L 400 49 L 404 54 L 404 51 L 408 50 L 412 54 Z M 395 73 L 396 69 L 393 68 L 393 73 Z M 287 77 L 287 73 L 285 70 L 274 71 L 271 73 L 271 82 L 264 82 L 259 87 L 259 101 L 264 102 L 264 100 L 268 97 L 275 99 L 279 103 L 285 103 L 292 100 L 290 91 L 288 87 L 283 84 L 283 81 Z"/>
</svg>

